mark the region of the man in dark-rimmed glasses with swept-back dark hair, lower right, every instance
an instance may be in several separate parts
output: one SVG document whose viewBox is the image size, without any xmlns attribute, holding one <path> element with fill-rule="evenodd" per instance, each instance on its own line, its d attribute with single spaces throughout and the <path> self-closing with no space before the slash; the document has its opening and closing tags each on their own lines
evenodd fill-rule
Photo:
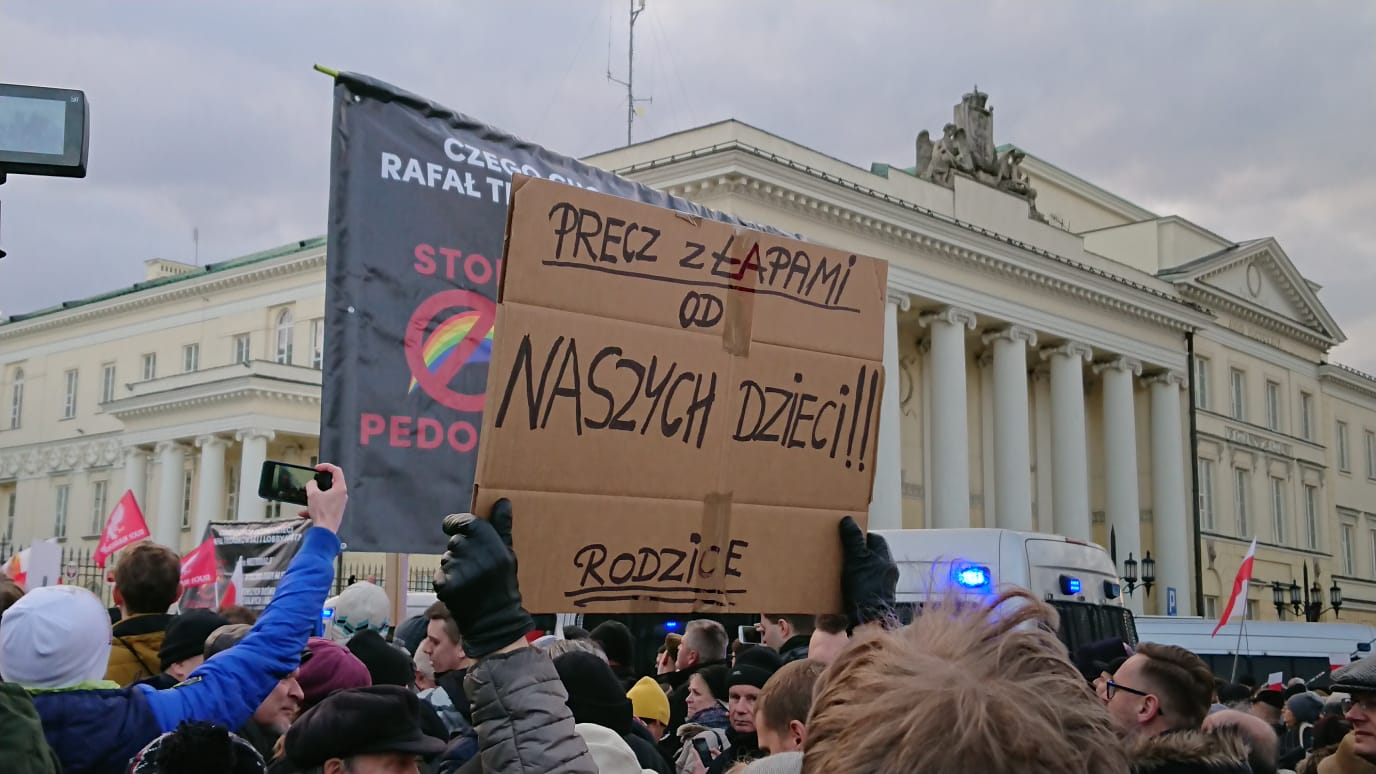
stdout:
<svg viewBox="0 0 1376 774">
<path fill-rule="evenodd" d="M 1130 740 L 1134 774 L 1249 771 L 1236 735 L 1201 730 L 1214 702 L 1214 673 L 1189 650 L 1141 643 L 1112 676 L 1095 680 L 1095 690 Z"/>
</svg>

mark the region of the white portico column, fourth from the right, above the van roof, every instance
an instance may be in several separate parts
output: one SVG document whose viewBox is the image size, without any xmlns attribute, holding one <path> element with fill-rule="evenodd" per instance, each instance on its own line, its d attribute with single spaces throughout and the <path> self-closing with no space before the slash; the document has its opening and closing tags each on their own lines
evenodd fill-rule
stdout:
<svg viewBox="0 0 1376 774">
<path fill-rule="evenodd" d="M 1032 530 L 1032 452 L 1028 430 L 1026 348 L 1036 333 L 1013 325 L 984 335 L 993 346 L 995 522 L 1000 529 Z"/>
</svg>

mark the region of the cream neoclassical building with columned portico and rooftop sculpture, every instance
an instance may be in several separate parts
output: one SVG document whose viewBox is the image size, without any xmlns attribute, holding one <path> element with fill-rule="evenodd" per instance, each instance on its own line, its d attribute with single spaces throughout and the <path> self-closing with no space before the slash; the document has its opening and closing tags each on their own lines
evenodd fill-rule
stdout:
<svg viewBox="0 0 1376 774">
<path fill-rule="evenodd" d="M 1256 537 L 1254 617 L 1277 616 L 1265 583 L 1307 570 L 1376 620 L 1376 379 L 1328 362 L 1343 333 L 1276 240 L 996 147 L 982 94 L 911 165 L 736 121 L 589 161 L 889 262 L 871 526 L 1150 552 L 1153 592 L 1128 602 L 1181 616 L 1216 616 Z M 183 548 L 261 515 L 239 496 L 260 460 L 318 453 L 323 266 L 321 240 L 149 262 L 146 282 L 0 325 L 4 533 L 89 538 L 125 488 Z"/>
</svg>

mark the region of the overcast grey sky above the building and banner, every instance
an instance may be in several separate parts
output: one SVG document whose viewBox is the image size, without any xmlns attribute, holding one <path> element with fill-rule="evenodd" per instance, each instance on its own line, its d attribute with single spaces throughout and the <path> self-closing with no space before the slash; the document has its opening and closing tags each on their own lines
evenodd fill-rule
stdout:
<svg viewBox="0 0 1376 774">
<path fill-rule="evenodd" d="M 0 81 L 80 88 L 84 180 L 0 186 L 0 310 L 323 234 L 330 81 L 367 73 L 555 150 L 625 140 L 623 0 L 0 0 Z M 1376 3 L 648 0 L 636 138 L 739 118 L 911 164 L 978 84 L 995 139 L 1227 238 L 1274 236 L 1376 370 Z"/>
</svg>

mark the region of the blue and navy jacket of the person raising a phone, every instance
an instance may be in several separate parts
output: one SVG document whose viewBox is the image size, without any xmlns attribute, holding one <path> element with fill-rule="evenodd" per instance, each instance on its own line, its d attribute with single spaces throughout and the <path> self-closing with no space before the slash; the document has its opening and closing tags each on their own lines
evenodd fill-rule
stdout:
<svg viewBox="0 0 1376 774">
<path fill-rule="evenodd" d="M 168 690 L 146 684 L 77 684 L 30 691 L 43 733 L 65 774 L 122 774 L 131 757 L 183 720 L 241 727 L 300 664 L 330 591 L 340 541 L 311 527 L 282 576 L 272 603 L 234 647 L 216 654 Z"/>
</svg>

